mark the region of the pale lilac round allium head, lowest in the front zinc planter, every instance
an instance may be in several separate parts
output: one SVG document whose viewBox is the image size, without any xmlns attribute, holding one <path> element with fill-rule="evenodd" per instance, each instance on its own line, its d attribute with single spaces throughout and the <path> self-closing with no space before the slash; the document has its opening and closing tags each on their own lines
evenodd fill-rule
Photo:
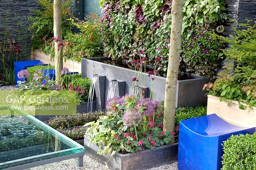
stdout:
<svg viewBox="0 0 256 170">
<path fill-rule="evenodd" d="M 136 110 L 128 110 L 124 113 L 123 123 L 125 126 L 129 127 L 141 122 L 142 116 L 140 112 Z"/>
</svg>

